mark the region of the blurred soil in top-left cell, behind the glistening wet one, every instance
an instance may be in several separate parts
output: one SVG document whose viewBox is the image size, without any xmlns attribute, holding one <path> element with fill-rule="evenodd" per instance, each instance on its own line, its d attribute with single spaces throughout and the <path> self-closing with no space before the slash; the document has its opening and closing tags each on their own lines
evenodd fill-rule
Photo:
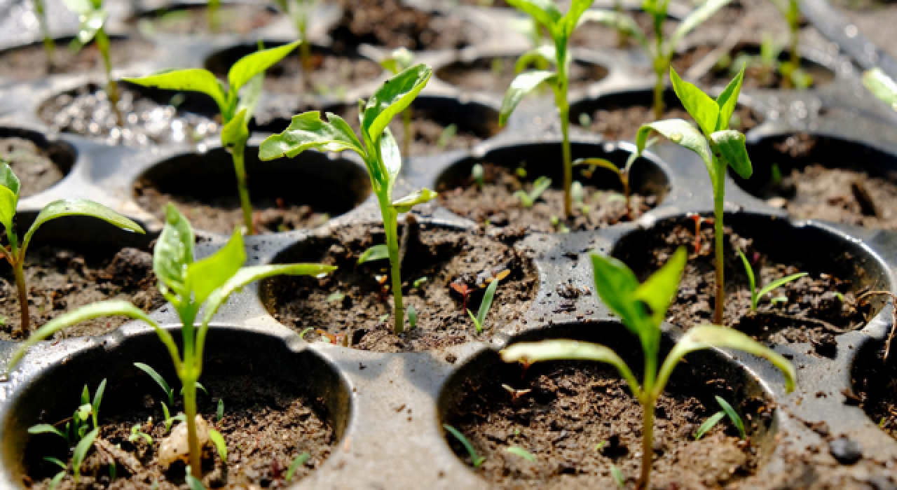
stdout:
<svg viewBox="0 0 897 490">
<path fill-rule="evenodd" d="M 110 39 L 109 58 L 112 66 L 123 66 L 153 55 L 152 43 L 139 38 Z M 16 47 L 0 53 L 0 72 L 20 81 L 39 80 L 55 73 L 90 73 L 104 70 L 100 51 L 91 44 L 77 52 L 67 43 L 57 43 L 53 65 L 47 60 L 42 44 Z"/>
</svg>

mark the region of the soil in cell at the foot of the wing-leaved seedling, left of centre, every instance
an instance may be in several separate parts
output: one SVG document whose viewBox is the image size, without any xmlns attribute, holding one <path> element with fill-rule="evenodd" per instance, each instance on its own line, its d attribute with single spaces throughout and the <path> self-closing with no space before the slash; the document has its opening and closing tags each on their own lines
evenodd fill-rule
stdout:
<svg viewBox="0 0 897 490">
<path fill-rule="evenodd" d="M 249 194 L 250 199 L 252 193 Z M 152 183 L 143 180 L 135 185 L 135 199 L 140 207 L 165 220 L 165 209 L 173 202 L 196 229 L 230 235 L 243 226 L 243 209 L 237 188 L 233 195 L 199 200 L 189 195 L 162 193 Z M 292 204 L 282 198 L 252 199 L 252 222 L 256 233 L 276 233 L 298 228 L 323 225 L 330 217 L 305 204 Z"/>
</svg>

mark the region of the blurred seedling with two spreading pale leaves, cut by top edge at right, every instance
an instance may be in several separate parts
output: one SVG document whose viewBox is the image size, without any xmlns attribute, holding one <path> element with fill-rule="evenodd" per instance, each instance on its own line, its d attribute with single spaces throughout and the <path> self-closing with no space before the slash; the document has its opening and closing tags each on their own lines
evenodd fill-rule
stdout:
<svg viewBox="0 0 897 490">
<path fill-rule="evenodd" d="M 606 10 L 590 10 L 582 16 L 582 21 L 596 21 L 613 27 L 617 31 L 626 32 L 632 39 L 636 39 L 645 55 L 651 60 L 654 74 L 657 80 L 654 84 L 654 118 L 660 119 L 664 115 L 664 85 L 666 72 L 670 69 L 670 63 L 675 55 L 675 49 L 679 43 L 696 27 L 710 19 L 718 10 L 732 0 L 709 0 L 694 9 L 679 24 L 669 39 L 664 38 L 664 21 L 669 0 L 645 0 L 642 9 L 649 13 L 653 20 L 653 39 L 645 34 L 631 16 L 620 12 Z M 727 121 L 728 123 L 728 121 Z"/>
</svg>

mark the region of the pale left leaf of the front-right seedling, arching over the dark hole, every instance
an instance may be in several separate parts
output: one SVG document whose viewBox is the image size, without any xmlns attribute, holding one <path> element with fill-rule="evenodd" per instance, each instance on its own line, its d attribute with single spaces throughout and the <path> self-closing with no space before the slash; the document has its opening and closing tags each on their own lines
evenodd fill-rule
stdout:
<svg viewBox="0 0 897 490">
<path fill-rule="evenodd" d="M 504 348 L 501 360 L 506 363 L 521 362 L 526 365 L 544 361 L 596 361 L 617 368 L 636 398 L 640 397 L 639 382 L 617 354 L 600 344 L 577 340 L 543 340 L 541 342 L 520 342 Z"/>
</svg>

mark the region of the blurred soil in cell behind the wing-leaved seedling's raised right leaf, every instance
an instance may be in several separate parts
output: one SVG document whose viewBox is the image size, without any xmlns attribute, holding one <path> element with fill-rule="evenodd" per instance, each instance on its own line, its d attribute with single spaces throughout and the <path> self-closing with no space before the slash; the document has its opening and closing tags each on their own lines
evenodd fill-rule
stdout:
<svg viewBox="0 0 897 490">
<path fill-rule="evenodd" d="M 274 47 L 274 44 L 266 43 L 266 47 Z M 226 77 L 231 65 L 257 49 L 255 44 L 231 47 L 210 57 L 205 63 L 206 68 Z M 337 55 L 323 47 L 312 47 L 309 63 L 311 70 L 306 73 L 302 67 L 300 49 L 294 49 L 290 56 L 266 71 L 265 90 L 344 99 L 348 90 L 373 82 L 383 72 L 379 64 L 370 59 L 355 53 Z"/>
</svg>

